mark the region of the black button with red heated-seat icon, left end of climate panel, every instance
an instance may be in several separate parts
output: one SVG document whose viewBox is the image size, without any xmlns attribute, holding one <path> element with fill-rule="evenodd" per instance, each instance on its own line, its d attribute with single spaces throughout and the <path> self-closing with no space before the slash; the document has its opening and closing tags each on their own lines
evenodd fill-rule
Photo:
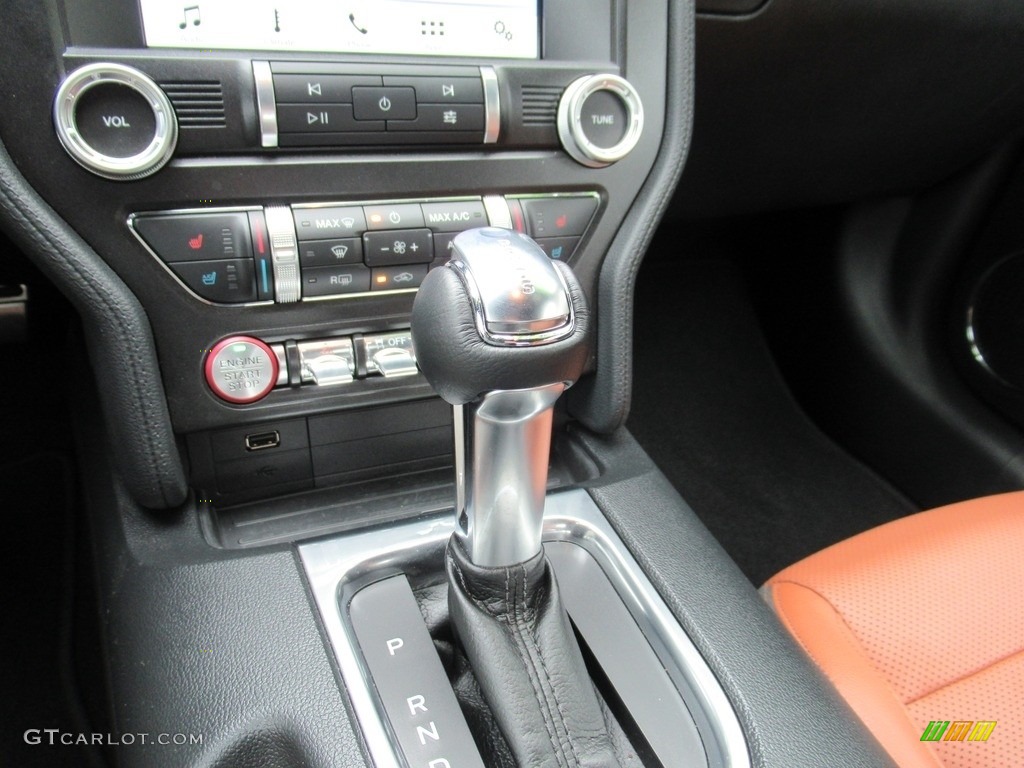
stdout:
<svg viewBox="0 0 1024 768">
<path fill-rule="evenodd" d="M 249 217 L 238 213 L 136 216 L 132 226 L 169 263 L 252 258 Z"/>
</svg>

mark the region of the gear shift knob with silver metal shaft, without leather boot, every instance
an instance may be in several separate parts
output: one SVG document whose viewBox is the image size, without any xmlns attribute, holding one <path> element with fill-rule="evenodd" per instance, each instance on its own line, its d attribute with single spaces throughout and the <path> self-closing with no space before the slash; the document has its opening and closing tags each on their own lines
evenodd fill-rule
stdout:
<svg viewBox="0 0 1024 768">
<path fill-rule="evenodd" d="M 464 546 L 476 565 L 512 565 L 541 551 L 552 407 L 583 371 L 588 314 L 568 267 L 524 236 L 472 229 L 454 251 L 420 289 L 413 338 L 456 407 Z"/>
</svg>

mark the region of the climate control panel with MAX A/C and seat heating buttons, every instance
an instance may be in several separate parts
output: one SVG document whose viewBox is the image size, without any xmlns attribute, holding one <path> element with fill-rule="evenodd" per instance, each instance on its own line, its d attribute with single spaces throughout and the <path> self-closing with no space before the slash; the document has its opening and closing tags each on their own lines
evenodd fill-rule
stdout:
<svg viewBox="0 0 1024 768">
<path fill-rule="evenodd" d="M 596 218 L 596 193 L 328 202 L 136 213 L 128 225 L 193 296 L 218 305 L 292 303 L 419 288 L 456 234 L 500 226 L 567 260 Z"/>
</svg>

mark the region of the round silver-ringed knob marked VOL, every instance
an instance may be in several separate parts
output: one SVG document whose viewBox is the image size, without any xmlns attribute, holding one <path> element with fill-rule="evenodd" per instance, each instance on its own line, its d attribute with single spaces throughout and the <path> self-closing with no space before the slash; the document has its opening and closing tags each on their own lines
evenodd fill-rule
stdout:
<svg viewBox="0 0 1024 768">
<path fill-rule="evenodd" d="M 60 143 L 79 165 L 120 181 L 156 173 L 178 140 L 167 94 L 124 65 L 88 65 L 69 75 L 57 89 L 53 121 Z"/>
</svg>

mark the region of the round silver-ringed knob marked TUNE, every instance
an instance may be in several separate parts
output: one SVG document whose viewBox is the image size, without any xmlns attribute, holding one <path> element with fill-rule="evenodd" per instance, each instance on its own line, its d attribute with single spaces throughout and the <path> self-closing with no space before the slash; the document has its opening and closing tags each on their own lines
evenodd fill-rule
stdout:
<svg viewBox="0 0 1024 768">
<path fill-rule="evenodd" d="M 617 75 L 573 81 L 558 103 L 558 137 L 573 160 L 603 168 L 622 160 L 640 140 L 643 104 L 636 88 Z"/>
</svg>

